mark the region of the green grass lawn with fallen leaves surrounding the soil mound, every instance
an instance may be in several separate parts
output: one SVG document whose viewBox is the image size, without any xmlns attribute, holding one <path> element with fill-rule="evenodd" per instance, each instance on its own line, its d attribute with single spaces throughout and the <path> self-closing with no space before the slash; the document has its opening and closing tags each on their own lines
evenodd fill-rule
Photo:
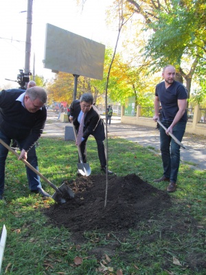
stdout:
<svg viewBox="0 0 206 275">
<path fill-rule="evenodd" d="M 45 177 L 56 186 L 60 186 L 64 179 L 76 179 L 78 151 L 74 142 L 44 137 L 39 143 L 36 148 L 38 166 Z M 161 157 L 152 153 L 150 148 L 119 138 L 109 139 L 108 145 L 108 166 L 118 177 L 136 173 L 152 185 L 152 180 L 162 175 Z M 87 150 L 92 174 L 99 174 L 100 163 L 93 138 L 89 138 Z M 18 275 L 112 275 L 120 269 L 124 275 L 205 274 L 205 270 L 198 267 L 191 269 L 186 264 L 189 260 L 198 261 L 200 255 L 205 254 L 205 171 L 192 170 L 187 164 L 181 164 L 178 191 L 171 194 L 174 199 L 170 209 L 172 220 L 165 219 L 163 210 L 158 221 L 151 219 L 140 223 L 137 230 L 128 230 L 125 238 L 119 239 L 115 232 L 102 234 L 94 230 L 84 232 L 79 243 L 73 243 L 68 229 L 58 228 L 47 221 L 41 210 L 54 201 L 30 194 L 25 166 L 11 153 L 5 174 L 5 201 L 0 202 L 0 228 L 5 224 L 8 238 L 2 274 L 6 270 L 7 274 Z M 54 193 L 48 184 L 41 182 L 47 192 Z M 158 188 L 165 190 L 165 184 L 159 184 Z M 198 225 L 192 226 L 192 220 Z M 173 231 L 176 221 L 181 221 L 186 230 Z M 111 263 L 104 256 L 101 262 L 106 267 L 113 267 L 113 271 L 97 271 L 101 265 L 94 251 L 102 252 L 101 255 L 109 254 Z M 83 259 L 78 266 L 73 263 L 77 256 Z M 181 265 L 172 264 L 172 257 L 179 259 Z M 170 271 L 165 269 L 168 263 Z"/>
</svg>

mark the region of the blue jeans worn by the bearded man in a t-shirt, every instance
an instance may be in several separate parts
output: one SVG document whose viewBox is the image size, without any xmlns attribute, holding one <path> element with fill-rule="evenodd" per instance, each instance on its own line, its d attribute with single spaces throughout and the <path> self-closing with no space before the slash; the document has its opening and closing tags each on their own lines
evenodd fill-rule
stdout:
<svg viewBox="0 0 206 275">
<path fill-rule="evenodd" d="M 168 128 L 171 122 L 161 122 Z M 185 133 L 186 122 L 178 122 L 172 129 L 173 135 L 181 142 Z M 163 162 L 163 175 L 176 183 L 180 164 L 180 146 L 176 144 L 170 135 L 160 126 L 160 149 Z"/>
</svg>

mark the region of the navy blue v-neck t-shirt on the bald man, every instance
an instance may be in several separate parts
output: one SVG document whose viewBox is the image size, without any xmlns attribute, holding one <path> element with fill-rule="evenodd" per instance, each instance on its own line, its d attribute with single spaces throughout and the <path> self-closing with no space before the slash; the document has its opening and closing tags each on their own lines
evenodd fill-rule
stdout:
<svg viewBox="0 0 206 275">
<path fill-rule="evenodd" d="M 168 89 L 165 88 L 165 82 L 156 86 L 155 96 L 159 97 L 162 107 L 162 121 L 173 121 L 176 113 L 179 111 L 178 100 L 187 98 L 187 89 L 182 83 L 174 81 Z M 187 111 L 185 111 L 180 122 L 187 122 Z"/>
</svg>

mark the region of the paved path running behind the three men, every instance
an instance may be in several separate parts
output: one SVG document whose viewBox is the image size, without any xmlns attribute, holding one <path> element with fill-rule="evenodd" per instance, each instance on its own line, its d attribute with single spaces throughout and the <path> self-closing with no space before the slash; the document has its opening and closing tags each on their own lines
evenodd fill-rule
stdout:
<svg viewBox="0 0 206 275">
<path fill-rule="evenodd" d="M 65 138 L 65 126 L 71 126 L 70 123 L 62 123 L 58 118 L 58 113 L 48 110 L 47 123 L 43 137 L 61 137 Z M 159 131 L 154 128 L 138 126 L 133 124 L 123 124 L 118 118 L 111 120 L 108 125 L 108 136 L 122 137 L 126 140 L 137 142 L 142 146 L 147 146 L 151 150 L 159 151 Z M 185 133 L 182 143 L 188 148 L 181 148 L 181 161 L 191 162 L 192 168 L 206 170 L 206 137 L 203 135 L 193 135 Z"/>
</svg>

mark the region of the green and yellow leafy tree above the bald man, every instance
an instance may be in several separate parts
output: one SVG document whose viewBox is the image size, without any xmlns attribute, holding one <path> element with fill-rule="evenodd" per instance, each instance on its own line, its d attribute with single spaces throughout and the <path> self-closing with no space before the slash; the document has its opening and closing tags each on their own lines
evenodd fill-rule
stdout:
<svg viewBox="0 0 206 275">
<path fill-rule="evenodd" d="M 205 61 L 205 14 L 203 0 L 126 0 L 128 11 L 141 14 L 145 30 L 152 30 L 146 56 L 153 71 L 172 64 L 185 78 L 190 96 L 192 77 Z"/>
</svg>

